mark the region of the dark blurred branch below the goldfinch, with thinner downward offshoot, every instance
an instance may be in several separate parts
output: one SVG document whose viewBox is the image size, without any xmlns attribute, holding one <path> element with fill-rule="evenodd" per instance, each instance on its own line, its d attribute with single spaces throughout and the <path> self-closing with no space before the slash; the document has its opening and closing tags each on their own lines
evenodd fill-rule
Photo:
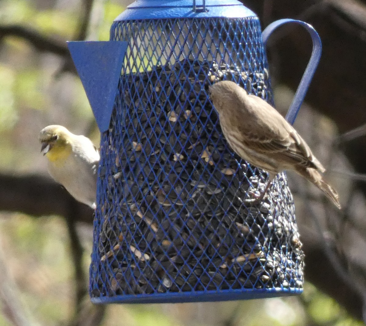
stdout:
<svg viewBox="0 0 366 326">
<path fill-rule="evenodd" d="M 66 220 L 75 273 L 75 314 L 70 326 L 99 325 L 105 311 L 89 301 L 87 278 L 83 271 L 83 248 L 76 223 L 93 223 L 93 210 L 79 202 L 51 178 L 40 175 L 0 175 L 0 210 L 22 212 L 33 217 L 60 215 Z M 89 303 L 83 304 L 87 297 Z M 82 317 L 83 316 L 83 317 Z M 98 321 L 99 320 L 99 321 Z"/>
</svg>

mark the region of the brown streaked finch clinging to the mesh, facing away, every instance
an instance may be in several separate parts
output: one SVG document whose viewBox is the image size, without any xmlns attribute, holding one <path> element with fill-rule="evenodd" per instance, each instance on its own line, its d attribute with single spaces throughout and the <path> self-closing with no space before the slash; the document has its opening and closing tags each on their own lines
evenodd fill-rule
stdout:
<svg viewBox="0 0 366 326">
<path fill-rule="evenodd" d="M 293 170 L 315 184 L 337 208 L 341 208 L 337 192 L 321 175 L 325 168 L 275 108 L 258 96 L 248 95 L 232 81 L 213 84 L 209 91 L 219 113 L 221 129 L 232 150 L 269 173 L 269 181 L 259 200 L 277 173 Z"/>
</svg>

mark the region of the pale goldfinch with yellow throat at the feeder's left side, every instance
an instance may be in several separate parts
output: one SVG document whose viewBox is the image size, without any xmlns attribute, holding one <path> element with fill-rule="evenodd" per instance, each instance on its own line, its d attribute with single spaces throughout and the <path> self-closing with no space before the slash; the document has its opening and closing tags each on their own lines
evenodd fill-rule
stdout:
<svg viewBox="0 0 366 326">
<path fill-rule="evenodd" d="M 40 132 L 41 153 L 48 171 L 77 201 L 96 208 L 98 150 L 89 138 L 77 136 L 60 125 Z"/>
</svg>

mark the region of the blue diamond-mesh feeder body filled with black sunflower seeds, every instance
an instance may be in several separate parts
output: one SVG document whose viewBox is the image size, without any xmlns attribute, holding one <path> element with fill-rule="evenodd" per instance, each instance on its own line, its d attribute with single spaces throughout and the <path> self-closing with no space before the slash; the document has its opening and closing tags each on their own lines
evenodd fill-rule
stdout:
<svg viewBox="0 0 366 326">
<path fill-rule="evenodd" d="M 208 85 L 233 80 L 273 103 L 257 18 L 115 22 L 127 40 L 101 138 L 93 302 L 233 300 L 300 293 L 303 252 L 282 173 L 232 153 Z"/>
</svg>

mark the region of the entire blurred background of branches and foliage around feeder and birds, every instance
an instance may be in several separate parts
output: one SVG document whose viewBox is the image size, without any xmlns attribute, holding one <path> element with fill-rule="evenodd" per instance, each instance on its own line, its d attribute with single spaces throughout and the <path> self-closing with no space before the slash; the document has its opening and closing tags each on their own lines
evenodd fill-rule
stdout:
<svg viewBox="0 0 366 326">
<path fill-rule="evenodd" d="M 366 1 L 251 0 L 265 28 L 311 23 L 323 54 L 295 127 L 328 169 L 344 209 L 288 173 L 303 249 L 301 296 L 226 303 L 93 306 L 87 296 L 92 212 L 55 184 L 39 131 L 99 134 L 66 40 L 108 40 L 131 1 L 0 0 L 0 325 L 363 325 L 366 296 Z M 285 114 L 311 40 L 281 28 L 268 43 Z M 366 314 L 365 314 L 366 315 Z"/>
</svg>

